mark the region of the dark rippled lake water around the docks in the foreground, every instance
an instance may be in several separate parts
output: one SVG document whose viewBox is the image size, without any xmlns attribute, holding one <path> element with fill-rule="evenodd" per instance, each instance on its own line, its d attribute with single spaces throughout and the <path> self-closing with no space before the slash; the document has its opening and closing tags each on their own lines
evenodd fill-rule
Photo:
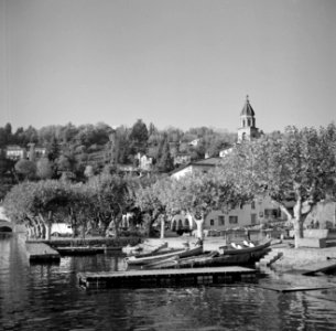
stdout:
<svg viewBox="0 0 336 331">
<path fill-rule="evenodd" d="M 1 236 L 0 330 L 336 329 L 334 289 L 279 293 L 242 285 L 99 291 L 77 287 L 78 271 L 123 267 L 113 255 L 29 265 L 18 238 Z M 322 280 L 336 286 L 335 278 Z M 285 279 L 273 275 L 258 285 L 279 281 Z"/>
</svg>

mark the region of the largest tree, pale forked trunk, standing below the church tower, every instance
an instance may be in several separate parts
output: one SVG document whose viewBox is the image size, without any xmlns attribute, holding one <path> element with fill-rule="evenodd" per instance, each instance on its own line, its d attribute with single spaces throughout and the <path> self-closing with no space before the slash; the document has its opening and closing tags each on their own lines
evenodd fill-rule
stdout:
<svg viewBox="0 0 336 331">
<path fill-rule="evenodd" d="M 226 158 L 225 171 L 253 195 L 268 194 L 293 222 L 295 246 L 312 207 L 335 194 L 336 128 L 288 127 L 283 135 L 243 142 Z M 284 203 L 292 199 L 293 211 Z"/>
</svg>

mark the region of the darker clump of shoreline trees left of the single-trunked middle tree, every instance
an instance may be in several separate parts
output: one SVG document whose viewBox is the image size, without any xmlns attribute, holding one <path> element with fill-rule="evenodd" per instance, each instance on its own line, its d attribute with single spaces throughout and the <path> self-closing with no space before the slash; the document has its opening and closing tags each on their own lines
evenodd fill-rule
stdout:
<svg viewBox="0 0 336 331">
<path fill-rule="evenodd" d="M 88 228 L 117 235 L 122 215 L 134 207 L 131 190 L 136 179 L 101 173 L 87 183 L 66 180 L 25 181 L 12 188 L 3 206 L 12 222 L 25 224 L 30 236 L 51 237 L 53 223 L 66 222 L 84 235 Z M 137 218 L 134 218 L 137 222 Z"/>
</svg>

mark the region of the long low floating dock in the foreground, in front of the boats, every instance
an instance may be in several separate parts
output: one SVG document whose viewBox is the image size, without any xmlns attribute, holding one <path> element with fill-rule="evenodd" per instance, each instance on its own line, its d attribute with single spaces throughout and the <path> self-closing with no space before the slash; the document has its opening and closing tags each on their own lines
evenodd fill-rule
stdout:
<svg viewBox="0 0 336 331">
<path fill-rule="evenodd" d="M 85 288 L 141 288 L 231 284 L 256 279 L 257 270 L 245 267 L 126 270 L 79 273 L 79 286 Z"/>
</svg>

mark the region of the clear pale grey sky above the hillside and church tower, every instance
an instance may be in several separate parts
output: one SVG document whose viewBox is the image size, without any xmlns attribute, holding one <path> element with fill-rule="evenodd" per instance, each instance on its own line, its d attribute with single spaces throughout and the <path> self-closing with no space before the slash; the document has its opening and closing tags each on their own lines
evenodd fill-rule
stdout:
<svg viewBox="0 0 336 331">
<path fill-rule="evenodd" d="M 0 0 L 0 126 L 335 120 L 334 0 Z"/>
</svg>

